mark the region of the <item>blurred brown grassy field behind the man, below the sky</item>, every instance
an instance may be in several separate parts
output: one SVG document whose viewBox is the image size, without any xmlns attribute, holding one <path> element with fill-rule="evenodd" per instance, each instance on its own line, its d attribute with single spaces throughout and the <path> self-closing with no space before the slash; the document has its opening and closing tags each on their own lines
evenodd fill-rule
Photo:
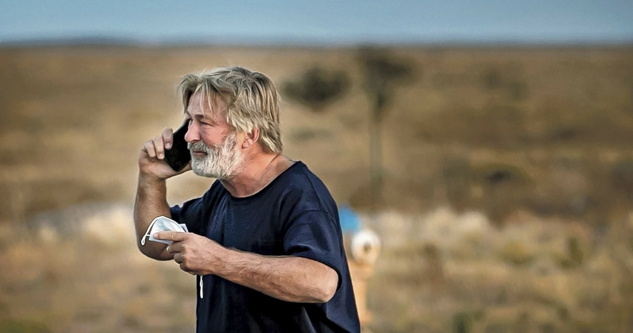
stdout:
<svg viewBox="0 0 633 333">
<path fill-rule="evenodd" d="M 137 253 L 128 212 L 142 143 L 182 121 L 180 76 L 230 64 L 351 78 L 318 112 L 282 96 L 282 135 L 384 242 L 374 332 L 633 330 L 633 49 L 390 50 L 415 79 L 382 123 L 375 204 L 358 52 L 0 49 L 0 332 L 193 330 L 193 279 Z M 210 183 L 179 176 L 169 200 Z"/>
</svg>

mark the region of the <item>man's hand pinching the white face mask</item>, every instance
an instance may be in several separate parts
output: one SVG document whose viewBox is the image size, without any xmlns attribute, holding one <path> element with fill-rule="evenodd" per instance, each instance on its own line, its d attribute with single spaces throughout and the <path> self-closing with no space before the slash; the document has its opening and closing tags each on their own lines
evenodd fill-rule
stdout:
<svg viewBox="0 0 633 333">
<path fill-rule="evenodd" d="M 161 231 L 154 234 L 154 238 L 173 241 L 165 251 L 172 253 L 180 269 L 189 274 L 215 274 L 220 253 L 226 250 L 215 241 L 194 233 Z"/>
</svg>

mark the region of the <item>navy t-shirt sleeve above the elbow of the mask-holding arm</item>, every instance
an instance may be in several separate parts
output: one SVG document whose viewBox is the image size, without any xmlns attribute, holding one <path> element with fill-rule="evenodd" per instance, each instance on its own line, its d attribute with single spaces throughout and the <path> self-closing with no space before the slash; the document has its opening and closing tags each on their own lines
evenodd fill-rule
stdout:
<svg viewBox="0 0 633 333">
<path fill-rule="evenodd" d="M 310 258 L 332 267 L 339 275 L 341 287 L 343 265 L 341 227 L 326 212 L 310 210 L 290 221 L 284 236 L 287 255 Z"/>
</svg>

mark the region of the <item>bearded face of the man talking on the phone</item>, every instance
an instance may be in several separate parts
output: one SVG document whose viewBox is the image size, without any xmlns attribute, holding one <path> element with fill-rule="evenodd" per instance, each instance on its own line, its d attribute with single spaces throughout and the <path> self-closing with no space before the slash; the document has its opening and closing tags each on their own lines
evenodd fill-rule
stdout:
<svg viewBox="0 0 633 333">
<path fill-rule="evenodd" d="M 191 167 L 199 176 L 230 179 L 244 162 L 237 133 L 223 116 L 225 107 L 225 102 L 218 99 L 217 103 L 211 103 L 210 109 L 201 94 L 189 99 L 187 118 L 191 120 L 185 140 L 189 143 Z"/>
</svg>

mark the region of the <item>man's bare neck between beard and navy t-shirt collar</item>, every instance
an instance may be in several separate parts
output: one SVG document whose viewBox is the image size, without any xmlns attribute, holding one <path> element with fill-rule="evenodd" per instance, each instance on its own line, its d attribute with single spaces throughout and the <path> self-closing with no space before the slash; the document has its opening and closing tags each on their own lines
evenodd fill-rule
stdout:
<svg viewBox="0 0 633 333">
<path fill-rule="evenodd" d="M 244 160 L 244 169 L 234 178 L 222 180 L 222 185 L 236 198 L 249 197 L 270 184 L 294 164 L 281 154 L 259 154 Z"/>
</svg>

